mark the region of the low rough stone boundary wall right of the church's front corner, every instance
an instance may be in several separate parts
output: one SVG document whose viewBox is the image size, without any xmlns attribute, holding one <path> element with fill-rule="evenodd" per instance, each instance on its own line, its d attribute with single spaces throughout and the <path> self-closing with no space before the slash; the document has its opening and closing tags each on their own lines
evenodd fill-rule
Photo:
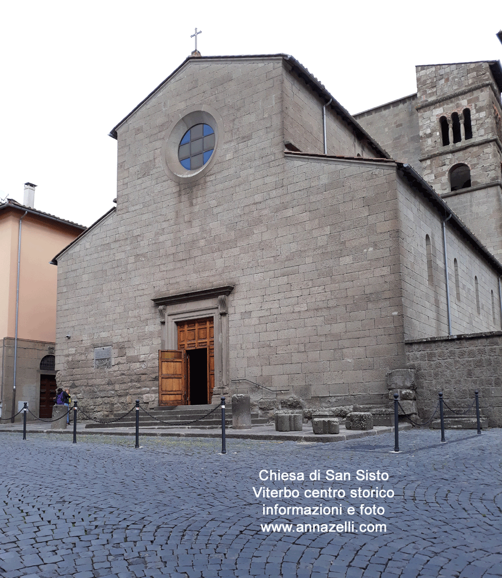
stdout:
<svg viewBox="0 0 502 578">
<path fill-rule="evenodd" d="M 440 391 L 448 405 L 457 409 L 470 406 L 478 390 L 481 414 L 488 417 L 490 427 L 502 427 L 501 331 L 406 340 L 405 347 L 408 367 L 417 370 L 422 418 L 432 415 Z"/>
</svg>

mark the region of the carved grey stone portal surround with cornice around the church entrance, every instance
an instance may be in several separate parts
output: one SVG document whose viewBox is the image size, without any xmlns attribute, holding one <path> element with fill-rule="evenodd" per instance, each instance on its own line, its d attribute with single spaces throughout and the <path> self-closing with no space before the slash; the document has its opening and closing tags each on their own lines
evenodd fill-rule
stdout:
<svg viewBox="0 0 502 578">
<path fill-rule="evenodd" d="M 233 288 L 233 285 L 228 285 L 152 299 L 158 306 L 162 350 L 178 349 L 178 321 L 213 317 L 215 403 L 220 403 L 220 396 L 228 396 L 230 391 L 228 297 Z"/>
</svg>

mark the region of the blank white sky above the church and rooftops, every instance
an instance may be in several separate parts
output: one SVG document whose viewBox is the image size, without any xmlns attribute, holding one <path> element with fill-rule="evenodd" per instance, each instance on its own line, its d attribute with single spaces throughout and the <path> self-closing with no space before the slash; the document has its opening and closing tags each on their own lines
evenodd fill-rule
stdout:
<svg viewBox="0 0 502 578">
<path fill-rule="evenodd" d="M 107 135 L 191 53 L 195 27 L 203 56 L 293 55 L 351 113 L 415 92 L 417 64 L 502 58 L 500 0 L 5 1 L 0 199 L 23 202 L 29 181 L 36 209 L 84 225 L 113 206 Z"/>
</svg>

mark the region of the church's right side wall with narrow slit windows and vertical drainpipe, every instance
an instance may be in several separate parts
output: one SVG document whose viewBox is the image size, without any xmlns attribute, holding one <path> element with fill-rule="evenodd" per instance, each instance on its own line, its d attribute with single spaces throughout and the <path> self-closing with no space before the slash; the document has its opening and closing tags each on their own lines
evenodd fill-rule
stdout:
<svg viewBox="0 0 502 578">
<path fill-rule="evenodd" d="M 404 181 L 400 181 L 400 186 L 405 335 L 408 339 L 447 335 L 441 218 L 437 210 L 424 202 L 421 195 Z M 430 260 L 426 236 L 430 239 Z M 446 238 L 452 332 L 467 334 L 498 330 L 501 316 L 497 272 L 479 257 L 450 221 L 446 224 Z"/>
</svg>

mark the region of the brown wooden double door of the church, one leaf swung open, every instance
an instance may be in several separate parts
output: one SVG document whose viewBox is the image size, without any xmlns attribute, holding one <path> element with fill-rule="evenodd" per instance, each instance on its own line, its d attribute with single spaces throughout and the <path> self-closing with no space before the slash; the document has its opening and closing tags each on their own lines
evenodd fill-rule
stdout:
<svg viewBox="0 0 502 578">
<path fill-rule="evenodd" d="M 180 321 L 178 349 L 159 351 L 159 405 L 211 403 L 214 318 Z"/>
</svg>

